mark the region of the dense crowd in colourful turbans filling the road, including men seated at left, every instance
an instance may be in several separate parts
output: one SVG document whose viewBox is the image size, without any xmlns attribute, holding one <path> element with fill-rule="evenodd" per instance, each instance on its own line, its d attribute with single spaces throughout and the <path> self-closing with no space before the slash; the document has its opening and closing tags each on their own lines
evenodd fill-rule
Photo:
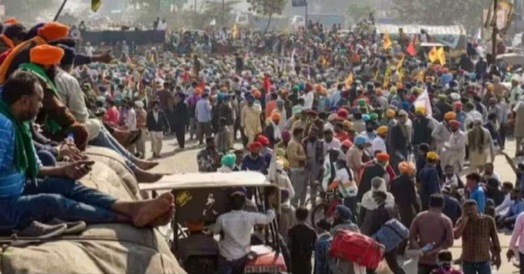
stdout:
<svg viewBox="0 0 524 274">
<path fill-rule="evenodd" d="M 252 190 L 233 193 L 233 211 L 212 227 L 223 234 L 218 247 L 210 245 L 221 258 L 219 273 L 242 273 L 253 227 L 274 218 L 289 273 L 375 273 L 332 256 L 330 243 L 344 231 L 379 241 L 382 227 L 395 220 L 409 231 L 395 243 L 381 242 L 395 274 L 405 273 L 398 257 L 413 253 L 419 274 L 461 273 L 457 263 L 465 274 L 491 273 L 502 261 L 498 231 L 513 232 L 507 257 L 523 259 L 517 241 L 524 241 L 524 165 L 504 153 L 514 135 L 516 156 L 524 155 L 521 78 L 504 63 L 488 66 L 485 59 L 493 58 L 474 50 L 430 61 L 416 45 L 431 39 L 427 33 L 400 30 L 390 38 L 369 20 L 339 30 L 309 24 L 256 45 L 241 33 L 227 38 L 238 39 L 240 50 L 226 55 L 124 47 L 114 59 L 75 51 L 63 24 L 27 29 L 6 20 L 0 203 L 8 210 L 0 214 L 1 230 L 49 234 L 63 224 L 48 222 L 53 218 L 71 226 L 167 224 L 170 193 L 117 201 L 76 180 L 93 165 L 83 153 L 89 145 L 121 155 L 138 182 L 159 181 L 161 174 L 148 172 L 158 163 L 144 160 L 146 140 L 161 158 L 164 135 L 175 135 L 184 150 L 189 132 L 189 142 L 203 146 L 199 172 L 261 172 L 282 190 L 279 214 L 247 212 L 256 211 Z M 495 172 L 499 152 L 516 183 Z M 336 192 L 341 203 L 334 216 L 311 224 L 307 206 L 321 203 L 321 192 Z M 201 224 L 188 228 L 210 239 Z M 462 256 L 453 261 L 448 249 L 459 238 Z"/>
</svg>

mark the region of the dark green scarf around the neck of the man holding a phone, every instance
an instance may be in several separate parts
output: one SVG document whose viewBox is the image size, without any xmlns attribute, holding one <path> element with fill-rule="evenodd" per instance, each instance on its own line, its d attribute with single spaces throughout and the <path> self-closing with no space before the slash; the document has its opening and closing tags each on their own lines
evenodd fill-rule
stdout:
<svg viewBox="0 0 524 274">
<path fill-rule="evenodd" d="M 0 114 L 6 116 L 15 128 L 15 158 L 13 165 L 20 173 L 35 178 L 36 174 L 38 174 L 38 164 L 31 135 L 31 123 L 29 121 L 23 123 L 17 121 L 11 109 L 3 100 L 0 100 Z"/>
</svg>

